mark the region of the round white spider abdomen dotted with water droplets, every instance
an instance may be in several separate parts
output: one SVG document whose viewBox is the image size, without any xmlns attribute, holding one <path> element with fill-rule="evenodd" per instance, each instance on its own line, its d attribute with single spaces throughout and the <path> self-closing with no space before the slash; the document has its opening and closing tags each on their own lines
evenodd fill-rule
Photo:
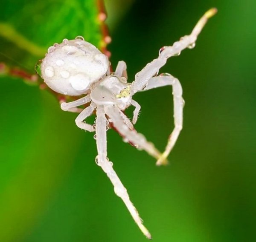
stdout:
<svg viewBox="0 0 256 242">
<path fill-rule="evenodd" d="M 55 92 L 81 95 L 105 76 L 108 68 L 107 56 L 79 37 L 51 46 L 42 61 L 41 75 Z"/>
</svg>

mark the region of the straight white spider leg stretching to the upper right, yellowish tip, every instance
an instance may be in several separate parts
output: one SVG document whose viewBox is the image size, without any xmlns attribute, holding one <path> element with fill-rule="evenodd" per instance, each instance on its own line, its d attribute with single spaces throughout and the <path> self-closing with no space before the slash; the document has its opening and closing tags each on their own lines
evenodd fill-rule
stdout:
<svg viewBox="0 0 256 242">
<path fill-rule="evenodd" d="M 193 48 L 195 41 L 207 20 L 217 12 L 217 9 L 208 10 L 203 17 L 198 21 L 195 28 L 192 30 L 190 35 L 186 35 L 180 38 L 179 41 L 175 42 L 172 46 L 164 46 L 160 49 L 159 56 L 152 62 L 148 63 L 140 72 L 135 75 L 135 80 L 131 84 L 131 95 L 143 90 L 147 85 L 148 80 L 158 73 L 159 69 L 165 65 L 168 58 L 180 55 L 180 52 L 186 48 Z"/>
</svg>

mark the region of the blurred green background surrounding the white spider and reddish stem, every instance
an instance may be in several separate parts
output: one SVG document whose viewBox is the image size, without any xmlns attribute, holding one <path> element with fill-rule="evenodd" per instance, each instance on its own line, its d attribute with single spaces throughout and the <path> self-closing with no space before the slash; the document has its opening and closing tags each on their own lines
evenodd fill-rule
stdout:
<svg viewBox="0 0 256 242">
<path fill-rule="evenodd" d="M 93 0 L 1 5 L 0 22 L 39 46 L 76 35 L 99 43 Z M 186 101 L 169 166 L 156 167 L 147 153 L 108 131 L 108 156 L 157 242 L 256 241 L 256 1 L 106 1 L 111 63 L 125 60 L 130 82 L 213 6 L 218 14 L 195 48 L 160 71 L 179 78 Z M 31 69 L 39 58 L 17 51 L 4 31 L 0 26 L 0 62 Z M 76 114 L 18 78 L 2 75 L 0 88 L 0 242 L 146 241 L 95 164 L 93 134 L 76 127 Z M 163 150 L 173 128 L 171 87 L 134 99 L 142 107 L 136 129 Z"/>
</svg>

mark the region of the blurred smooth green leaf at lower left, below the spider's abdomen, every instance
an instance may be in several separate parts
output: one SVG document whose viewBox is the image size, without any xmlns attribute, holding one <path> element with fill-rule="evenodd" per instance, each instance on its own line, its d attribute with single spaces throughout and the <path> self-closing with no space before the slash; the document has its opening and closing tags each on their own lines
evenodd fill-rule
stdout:
<svg viewBox="0 0 256 242">
<path fill-rule="evenodd" d="M 0 241 L 21 242 L 47 210 L 86 142 L 74 115 L 62 112 L 48 92 L 9 77 L 1 80 L 1 88 Z M 14 115 L 10 107 L 17 101 L 21 105 Z"/>
</svg>

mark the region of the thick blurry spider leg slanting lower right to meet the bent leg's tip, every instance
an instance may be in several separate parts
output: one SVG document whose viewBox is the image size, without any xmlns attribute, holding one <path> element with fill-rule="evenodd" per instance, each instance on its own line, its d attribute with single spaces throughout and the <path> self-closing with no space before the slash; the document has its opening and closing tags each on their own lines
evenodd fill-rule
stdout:
<svg viewBox="0 0 256 242">
<path fill-rule="evenodd" d="M 122 117 L 119 113 L 119 108 L 116 106 L 106 106 L 105 112 L 110 118 L 109 121 L 113 123 L 113 126 L 116 130 L 125 138 L 127 141 L 135 144 L 138 149 L 145 150 L 149 155 L 153 156 L 156 159 L 162 157 L 162 154 L 154 147 L 154 144 L 148 142 L 146 138 L 137 133 L 136 130 L 130 130 L 127 125 L 122 120 Z M 167 164 L 167 161 L 163 161 L 164 164 Z"/>
</svg>

